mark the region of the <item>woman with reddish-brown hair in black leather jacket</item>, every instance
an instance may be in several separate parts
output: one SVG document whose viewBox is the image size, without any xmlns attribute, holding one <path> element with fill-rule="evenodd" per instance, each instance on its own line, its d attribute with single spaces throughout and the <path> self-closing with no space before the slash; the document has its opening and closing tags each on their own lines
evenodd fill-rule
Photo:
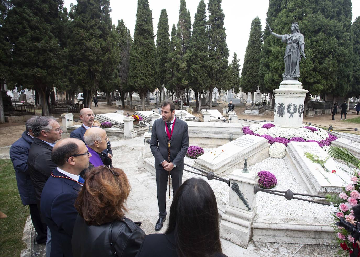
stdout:
<svg viewBox="0 0 360 257">
<path fill-rule="evenodd" d="M 71 240 L 74 257 L 135 256 L 145 233 L 125 217 L 129 193 L 121 169 L 98 166 L 87 173 L 75 202 L 79 214 Z"/>
</svg>

